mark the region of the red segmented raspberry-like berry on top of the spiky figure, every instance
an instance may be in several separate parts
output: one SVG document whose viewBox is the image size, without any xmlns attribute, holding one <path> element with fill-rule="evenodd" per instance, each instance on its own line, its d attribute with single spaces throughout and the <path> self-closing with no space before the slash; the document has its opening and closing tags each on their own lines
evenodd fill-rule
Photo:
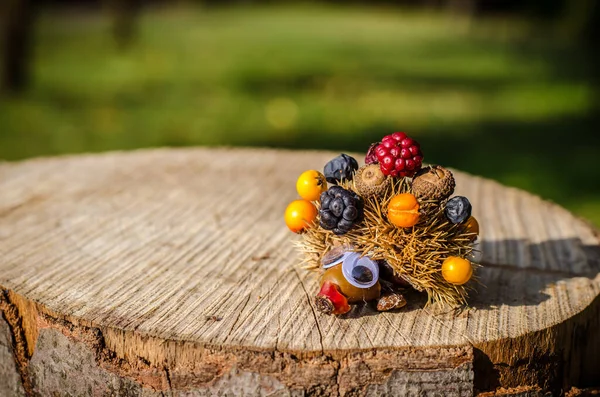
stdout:
<svg viewBox="0 0 600 397">
<path fill-rule="evenodd" d="M 404 132 L 394 132 L 383 137 L 374 150 L 369 148 L 369 154 L 373 153 L 381 172 L 392 177 L 413 176 L 421 169 L 423 162 L 421 146 Z"/>
</svg>

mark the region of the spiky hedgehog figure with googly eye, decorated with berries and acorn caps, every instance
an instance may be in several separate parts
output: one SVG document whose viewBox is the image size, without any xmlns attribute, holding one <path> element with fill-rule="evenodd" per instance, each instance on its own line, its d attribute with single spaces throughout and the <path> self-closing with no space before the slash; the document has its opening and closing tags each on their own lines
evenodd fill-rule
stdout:
<svg viewBox="0 0 600 397">
<path fill-rule="evenodd" d="M 465 305 L 479 223 L 469 200 L 453 196 L 452 172 L 423 166 L 421 146 L 403 132 L 371 145 L 364 162 L 341 154 L 322 173 L 302 173 L 301 199 L 285 211 L 305 267 L 320 272 L 317 309 L 344 314 L 363 301 L 399 309 L 410 289 L 427 304 Z"/>
</svg>

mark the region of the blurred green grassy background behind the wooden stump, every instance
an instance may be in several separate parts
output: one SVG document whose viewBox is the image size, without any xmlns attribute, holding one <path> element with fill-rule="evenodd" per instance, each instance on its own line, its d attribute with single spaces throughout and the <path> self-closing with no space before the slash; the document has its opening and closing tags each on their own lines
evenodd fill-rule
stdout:
<svg viewBox="0 0 600 397">
<path fill-rule="evenodd" d="M 600 226 L 596 2 L 391 3 L 43 3 L 23 76 L 15 83 L 5 66 L 0 158 L 188 145 L 364 152 L 406 131 L 426 162 Z"/>
</svg>

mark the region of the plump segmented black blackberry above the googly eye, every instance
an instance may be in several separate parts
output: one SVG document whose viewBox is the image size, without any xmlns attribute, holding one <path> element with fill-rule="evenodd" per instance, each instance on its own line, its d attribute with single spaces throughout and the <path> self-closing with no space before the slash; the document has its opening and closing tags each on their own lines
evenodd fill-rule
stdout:
<svg viewBox="0 0 600 397">
<path fill-rule="evenodd" d="M 363 219 L 364 202 L 353 191 L 332 186 L 321 193 L 320 225 L 336 235 L 348 233 Z"/>
</svg>

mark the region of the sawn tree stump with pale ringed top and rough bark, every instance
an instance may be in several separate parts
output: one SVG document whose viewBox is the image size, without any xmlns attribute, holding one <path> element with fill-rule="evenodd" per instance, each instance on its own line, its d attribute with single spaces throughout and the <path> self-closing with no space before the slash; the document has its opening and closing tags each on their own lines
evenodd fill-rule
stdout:
<svg viewBox="0 0 600 397">
<path fill-rule="evenodd" d="M 0 395 L 544 395 L 600 382 L 597 232 L 456 172 L 480 220 L 463 311 L 315 310 L 283 222 L 333 156 L 142 150 L 0 165 Z"/>
</svg>

